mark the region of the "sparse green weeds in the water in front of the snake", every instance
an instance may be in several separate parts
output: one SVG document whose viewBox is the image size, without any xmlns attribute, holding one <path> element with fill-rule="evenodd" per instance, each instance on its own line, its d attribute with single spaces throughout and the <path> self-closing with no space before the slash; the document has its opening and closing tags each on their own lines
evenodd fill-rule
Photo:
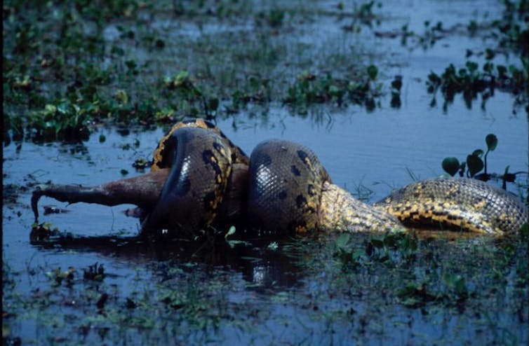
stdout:
<svg viewBox="0 0 529 346">
<path fill-rule="evenodd" d="M 78 249 L 80 254 L 101 251 L 117 258 L 134 254 L 129 261 L 138 261 L 138 268 L 130 273 L 115 272 L 103 263 L 84 268 L 28 263 L 27 273 L 22 273 L 3 261 L 4 341 L 20 342 L 11 334 L 9 321 L 14 317 L 39 319 L 39 328 L 53 331 L 39 342 L 46 344 L 135 344 L 136 333 L 142 342 L 222 343 L 250 335 L 249 343 L 274 343 L 279 339 L 273 335 L 250 332 L 265 320 L 269 328 L 290 331 L 281 340 L 291 343 L 300 342 L 306 337 L 302 331 L 315 325 L 321 326 L 316 328 L 320 334 L 309 337 L 309 343 L 332 340 L 326 324 L 348 330 L 349 340 L 377 340 L 388 338 L 377 317 L 384 310 L 384 315 L 401 311 L 386 316 L 394 321 L 436 325 L 453 319 L 482 333 L 486 332 L 481 328 L 497 331 L 486 333 L 487 340 L 522 342 L 523 335 L 509 326 L 528 318 L 527 228 L 509 240 L 438 236 L 342 234 L 325 243 L 278 240 L 274 247 L 265 246 L 266 240 L 176 242 L 158 244 L 154 250 L 162 261 L 150 261 L 147 267 L 142 258 L 152 244 L 59 237 L 55 248 Z M 242 266 L 244 279 L 234 270 L 220 268 L 220 263 Z M 284 272 L 286 268 L 290 273 Z M 124 270 L 131 277 L 129 287 L 118 284 Z M 25 275 L 29 291 L 19 291 Z M 145 280 L 149 284 L 142 284 Z M 306 286 L 302 294 L 299 285 Z M 286 306 L 294 312 L 274 313 Z M 53 313 L 54 307 L 62 313 Z M 496 319 L 498 310 L 508 318 Z M 443 329 L 410 340 L 469 341 L 460 327 L 446 328 L 449 337 Z"/>
</svg>

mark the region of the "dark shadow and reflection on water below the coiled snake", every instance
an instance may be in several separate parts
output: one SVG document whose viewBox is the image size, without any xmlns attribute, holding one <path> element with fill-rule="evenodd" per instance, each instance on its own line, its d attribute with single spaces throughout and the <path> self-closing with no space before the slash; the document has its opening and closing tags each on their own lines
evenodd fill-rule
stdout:
<svg viewBox="0 0 529 346">
<path fill-rule="evenodd" d="M 268 249 L 271 242 L 286 244 L 289 238 L 253 237 L 225 240 L 224 237 L 199 240 L 145 237 L 76 236 L 60 233 L 45 240 L 32 241 L 40 250 L 80 251 L 119 258 L 136 265 L 171 265 L 192 272 L 210 268 L 241 273 L 256 289 L 300 286 L 304 270 L 283 251 Z"/>
</svg>

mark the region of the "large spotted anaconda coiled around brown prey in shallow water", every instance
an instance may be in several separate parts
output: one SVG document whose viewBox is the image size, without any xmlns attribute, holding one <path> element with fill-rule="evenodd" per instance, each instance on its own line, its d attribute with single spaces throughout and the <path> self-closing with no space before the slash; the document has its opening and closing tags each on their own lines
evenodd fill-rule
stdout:
<svg viewBox="0 0 529 346">
<path fill-rule="evenodd" d="M 516 233 L 528 207 L 475 179 L 417 181 L 374 205 L 332 183 L 300 144 L 268 140 L 250 158 L 206 120 L 174 125 L 154 151 L 152 172 L 102 186 L 53 185 L 34 191 L 66 202 L 133 203 L 145 210 L 142 232 L 203 230 L 240 222 L 283 234 L 311 230 L 380 232 L 404 227 Z"/>
</svg>

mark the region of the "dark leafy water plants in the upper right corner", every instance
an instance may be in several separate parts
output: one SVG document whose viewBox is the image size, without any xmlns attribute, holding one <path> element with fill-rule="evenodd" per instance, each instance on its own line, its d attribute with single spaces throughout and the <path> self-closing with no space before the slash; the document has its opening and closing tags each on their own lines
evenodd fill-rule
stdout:
<svg viewBox="0 0 529 346">
<path fill-rule="evenodd" d="M 431 72 L 428 76 L 428 92 L 434 94 L 432 106 L 436 104 L 436 91 L 441 88 L 443 109 L 453 102 L 454 96 L 462 94 L 467 107 L 481 95 L 481 108 L 485 109 L 487 99 L 494 96 L 495 90 L 510 92 L 515 96 L 514 112 L 517 106 L 525 106 L 529 112 L 529 2 L 526 0 L 504 0 L 502 18 L 494 18 L 490 23 L 478 25 L 471 21 L 467 27 L 472 36 L 480 30 L 488 29 L 497 42 L 497 46 L 474 52 L 467 50 L 466 57 L 484 56 L 486 62 L 480 71 L 479 64 L 471 60 L 465 67 L 456 69 L 453 64 L 439 76 Z M 511 57 L 514 63 L 508 66 L 495 64 L 497 55 Z"/>
</svg>

